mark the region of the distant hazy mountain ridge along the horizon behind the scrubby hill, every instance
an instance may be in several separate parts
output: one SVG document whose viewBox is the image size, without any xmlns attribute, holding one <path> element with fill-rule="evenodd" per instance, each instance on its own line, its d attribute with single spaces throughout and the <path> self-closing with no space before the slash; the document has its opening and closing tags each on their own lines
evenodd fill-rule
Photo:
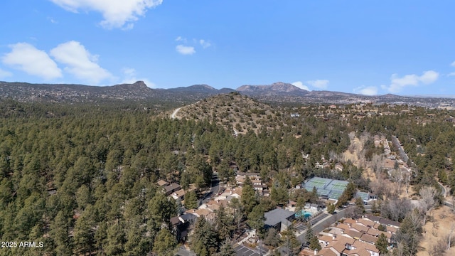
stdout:
<svg viewBox="0 0 455 256">
<path fill-rule="evenodd" d="M 150 88 L 146 86 L 144 81 L 110 86 L 0 81 L 0 99 L 11 98 L 19 101 L 100 102 L 101 100 L 154 100 L 183 105 L 187 102 L 195 102 L 206 97 L 229 92 L 240 92 L 242 95 L 254 97 L 256 100 L 281 102 L 283 104 L 350 104 L 355 102 L 413 104 L 415 102 L 432 102 L 434 105 L 441 99 L 434 97 L 406 97 L 392 94 L 367 96 L 328 90 L 308 91 L 287 82 L 274 82 L 271 85 L 242 85 L 234 90 L 231 88 L 216 89 L 205 84 L 169 89 Z M 454 101 L 454 99 L 451 100 Z"/>
</svg>

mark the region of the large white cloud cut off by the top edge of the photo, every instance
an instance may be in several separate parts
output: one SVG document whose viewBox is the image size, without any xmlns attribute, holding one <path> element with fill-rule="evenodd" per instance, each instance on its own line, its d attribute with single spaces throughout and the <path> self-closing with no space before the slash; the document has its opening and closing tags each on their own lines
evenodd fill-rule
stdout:
<svg viewBox="0 0 455 256">
<path fill-rule="evenodd" d="M 98 11 L 105 28 L 132 28 L 132 23 L 144 16 L 147 9 L 163 3 L 163 0 L 50 0 L 68 11 Z M 125 26 L 126 24 L 126 26 Z"/>
</svg>

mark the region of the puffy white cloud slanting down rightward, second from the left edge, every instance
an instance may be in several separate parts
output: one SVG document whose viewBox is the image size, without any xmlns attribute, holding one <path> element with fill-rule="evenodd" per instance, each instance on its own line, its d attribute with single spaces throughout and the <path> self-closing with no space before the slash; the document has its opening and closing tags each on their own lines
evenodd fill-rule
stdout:
<svg viewBox="0 0 455 256">
<path fill-rule="evenodd" d="M 61 43 L 50 50 L 50 55 L 59 63 L 66 65 L 65 71 L 87 82 L 98 84 L 112 75 L 97 64 L 97 55 L 91 55 L 79 42 Z"/>
</svg>

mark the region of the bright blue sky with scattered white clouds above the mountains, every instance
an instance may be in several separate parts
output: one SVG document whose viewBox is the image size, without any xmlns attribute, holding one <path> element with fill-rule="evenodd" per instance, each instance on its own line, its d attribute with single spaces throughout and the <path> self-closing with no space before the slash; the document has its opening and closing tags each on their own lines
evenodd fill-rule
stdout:
<svg viewBox="0 0 455 256">
<path fill-rule="evenodd" d="M 455 1 L 15 0 L 0 80 L 455 95 Z"/>
</svg>

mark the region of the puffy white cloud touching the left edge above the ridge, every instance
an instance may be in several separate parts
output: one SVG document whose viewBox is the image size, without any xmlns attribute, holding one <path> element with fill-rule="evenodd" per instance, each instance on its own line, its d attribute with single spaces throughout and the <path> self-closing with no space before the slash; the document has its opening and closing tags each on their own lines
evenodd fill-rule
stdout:
<svg viewBox="0 0 455 256">
<path fill-rule="evenodd" d="M 5 65 L 22 70 L 28 75 L 36 75 L 45 80 L 62 77 L 62 70 L 49 58 L 48 53 L 38 50 L 29 43 L 16 43 L 9 46 L 11 53 L 6 53 L 1 61 Z"/>
</svg>

